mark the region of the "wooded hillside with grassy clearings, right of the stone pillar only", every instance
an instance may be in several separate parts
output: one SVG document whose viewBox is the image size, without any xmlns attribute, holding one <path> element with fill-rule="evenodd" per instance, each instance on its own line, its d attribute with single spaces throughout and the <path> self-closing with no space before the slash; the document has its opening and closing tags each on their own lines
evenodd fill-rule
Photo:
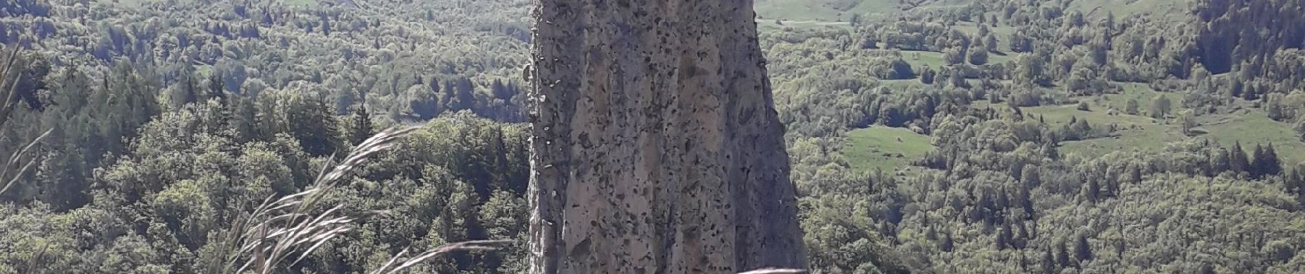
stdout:
<svg viewBox="0 0 1305 274">
<path fill-rule="evenodd" d="M 1298 1 L 850 3 L 758 21 L 814 270 L 1305 271 Z"/>
</svg>

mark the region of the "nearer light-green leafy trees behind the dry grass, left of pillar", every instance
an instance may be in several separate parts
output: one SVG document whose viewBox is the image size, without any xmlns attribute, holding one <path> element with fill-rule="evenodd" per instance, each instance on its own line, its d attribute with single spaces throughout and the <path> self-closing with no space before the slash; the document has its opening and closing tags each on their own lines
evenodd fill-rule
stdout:
<svg viewBox="0 0 1305 274">
<path fill-rule="evenodd" d="M 234 223 L 260 219 L 243 209 L 256 208 L 269 195 L 304 190 L 315 195 L 299 197 L 335 206 L 331 213 L 388 214 L 352 219 L 355 225 L 347 226 L 352 231 L 326 230 L 334 238 L 313 240 L 320 244 L 316 251 L 286 265 L 296 271 L 361 273 L 402 265 L 389 260 L 405 248 L 438 251 L 475 239 L 518 242 L 499 252 L 453 252 L 406 268 L 441 273 L 517 273 L 522 268 L 525 223 L 518 216 L 525 216 L 525 206 L 513 187 L 525 184 L 526 164 L 523 155 L 506 158 L 509 151 L 525 148 L 517 126 L 467 114 L 433 121 L 393 143 L 395 149 L 373 152 L 369 162 L 348 161 L 352 175 L 335 174 L 341 181 L 334 188 L 321 191 L 304 182 L 312 182 L 309 174 L 326 166 L 328 158 L 309 156 L 286 134 L 234 143 L 222 130 L 202 126 L 198 113 L 205 108 L 218 104 L 166 113 L 142 127 L 132 149 L 97 173 L 93 200 L 85 206 L 61 212 L 33 201 L 0 208 L 5 216 L 0 271 L 14 271 L 39 247 L 48 247 L 37 258 L 46 273 L 204 271 L 231 262 L 227 248 L 244 247 L 226 242 L 243 235 L 232 230 Z M 328 209 L 304 210 L 325 216 Z M 324 218 L 331 219 L 341 221 Z M 270 231 L 275 230 L 262 232 Z"/>
</svg>

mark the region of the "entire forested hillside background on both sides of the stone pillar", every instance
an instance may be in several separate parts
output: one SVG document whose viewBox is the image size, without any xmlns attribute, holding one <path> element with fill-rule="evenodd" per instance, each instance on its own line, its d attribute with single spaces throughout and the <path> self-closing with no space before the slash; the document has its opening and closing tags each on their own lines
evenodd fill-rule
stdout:
<svg viewBox="0 0 1305 274">
<path fill-rule="evenodd" d="M 471 239 L 517 242 L 414 273 L 522 273 L 531 5 L 0 3 L 0 273 L 214 273 L 403 125 L 322 203 L 365 218 L 279 273 Z M 1305 273 L 1301 1 L 756 9 L 812 273 Z"/>
</svg>

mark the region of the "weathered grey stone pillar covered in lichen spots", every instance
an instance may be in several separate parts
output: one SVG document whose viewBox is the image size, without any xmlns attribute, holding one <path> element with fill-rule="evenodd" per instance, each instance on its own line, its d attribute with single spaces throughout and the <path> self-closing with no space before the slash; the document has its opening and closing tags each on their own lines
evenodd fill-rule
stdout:
<svg viewBox="0 0 1305 274">
<path fill-rule="evenodd" d="M 536 0 L 531 270 L 805 266 L 750 0 Z"/>
</svg>

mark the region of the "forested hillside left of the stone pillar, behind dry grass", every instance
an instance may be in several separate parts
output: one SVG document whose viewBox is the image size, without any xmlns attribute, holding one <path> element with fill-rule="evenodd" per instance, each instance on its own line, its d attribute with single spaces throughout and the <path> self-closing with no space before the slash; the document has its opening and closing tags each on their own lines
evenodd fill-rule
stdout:
<svg viewBox="0 0 1305 274">
<path fill-rule="evenodd" d="M 405 248 L 521 239 L 527 131 L 502 122 L 523 117 L 529 5 L 8 1 L 0 40 L 22 51 L 0 153 L 21 158 L 0 273 L 210 273 L 258 203 L 408 123 L 321 203 L 386 214 L 286 266 L 361 273 Z M 414 268 L 519 273 L 519 247 Z"/>
</svg>

